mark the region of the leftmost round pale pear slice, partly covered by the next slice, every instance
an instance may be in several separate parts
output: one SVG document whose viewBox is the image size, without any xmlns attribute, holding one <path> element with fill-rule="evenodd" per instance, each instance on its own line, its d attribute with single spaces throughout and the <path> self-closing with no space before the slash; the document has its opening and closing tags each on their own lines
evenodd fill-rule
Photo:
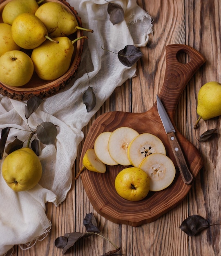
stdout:
<svg viewBox="0 0 221 256">
<path fill-rule="evenodd" d="M 118 163 L 110 156 L 108 151 L 108 141 L 112 132 L 102 132 L 94 141 L 94 152 L 101 162 L 107 165 L 117 165 Z"/>
</svg>

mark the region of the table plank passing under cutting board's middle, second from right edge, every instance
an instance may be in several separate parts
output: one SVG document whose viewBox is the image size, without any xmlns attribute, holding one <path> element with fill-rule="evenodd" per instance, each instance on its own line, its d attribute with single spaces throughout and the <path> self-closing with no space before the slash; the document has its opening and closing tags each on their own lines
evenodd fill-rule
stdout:
<svg viewBox="0 0 221 256">
<path fill-rule="evenodd" d="M 185 43 L 184 1 L 152 1 L 151 3 L 142 1 L 142 4 L 142 7 L 153 17 L 154 32 L 153 36 L 150 36 L 147 47 L 142 49 L 145 56 L 148 56 L 146 63 L 142 63 L 142 68 L 138 69 L 138 76 L 133 79 L 133 88 L 142 87 L 140 90 L 142 93 L 133 94 L 132 98 L 136 112 L 150 109 L 156 101 L 156 94 L 161 89 L 162 76 L 165 72 L 165 45 Z M 141 83 L 142 81 L 145 82 Z M 183 111 L 181 110 L 182 101 L 183 95 L 176 113 Z M 177 128 L 185 135 L 183 122 L 178 125 L 177 121 L 176 115 Z M 188 237 L 179 230 L 181 220 L 188 216 L 187 203 L 188 200 L 185 199 L 178 207 L 158 220 L 142 225 L 142 228 L 134 228 L 134 247 L 131 255 L 147 255 L 147 253 L 154 256 L 188 255 Z"/>
</svg>

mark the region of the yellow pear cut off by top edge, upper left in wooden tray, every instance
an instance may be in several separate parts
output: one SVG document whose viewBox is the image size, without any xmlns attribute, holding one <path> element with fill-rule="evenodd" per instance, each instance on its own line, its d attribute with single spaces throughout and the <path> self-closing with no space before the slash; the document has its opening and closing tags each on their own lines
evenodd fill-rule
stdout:
<svg viewBox="0 0 221 256">
<path fill-rule="evenodd" d="M 13 20 L 21 13 L 32 13 L 38 9 L 36 0 L 12 0 L 8 2 L 2 11 L 4 23 L 12 25 Z"/>
</svg>

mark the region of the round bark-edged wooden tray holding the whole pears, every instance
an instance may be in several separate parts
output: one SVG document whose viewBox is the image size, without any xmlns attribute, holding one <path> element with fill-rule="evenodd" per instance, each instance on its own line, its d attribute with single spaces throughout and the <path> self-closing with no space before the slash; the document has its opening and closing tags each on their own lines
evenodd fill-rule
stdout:
<svg viewBox="0 0 221 256">
<path fill-rule="evenodd" d="M 10 1 L 11 0 L 0 0 L 0 22 L 3 22 L 2 10 L 4 9 L 4 6 Z M 66 2 L 65 0 L 45 0 L 45 2 L 59 2 L 60 4 L 63 4 L 76 17 L 78 25 L 82 27 L 82 22 L 80 17 L 78 16 L 77 11 L 74 9 L 74 7 L 71 7 L 68 2 Z M 73 40 L 80 36 L 83 36 L 83 31 L 77 30 L 74 34 L 70 35 L 69 38 Z M 84 39 L 78 40 L 75 43 L 74 53 L 72 56 L 69 70 L 58 79 L 52 81 L 45 81 L 40 79 L 34 72 L 31 80 L 27 84 L 20 87 L 11 87 L 0 82 L 0 93 L 2 95 L 8 96 L 11 99 L 17 99 L 21 101 L 28 100 L 33 96 L 44 98 L 56 94 L 59 90 L 64 89 L 67 83 L 69 83 L 71 79 L 75 76 L 76 71 L 80 65 L 83 45 Z M 31 51 L 25 52 L 31 54 Z"/>
</svg>

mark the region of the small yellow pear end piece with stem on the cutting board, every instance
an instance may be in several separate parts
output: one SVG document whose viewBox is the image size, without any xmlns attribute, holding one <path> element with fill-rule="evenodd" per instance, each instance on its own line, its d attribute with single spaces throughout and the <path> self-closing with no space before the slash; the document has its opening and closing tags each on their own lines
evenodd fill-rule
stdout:
<svg viewBox="0 0 221 256">
<path fill-rule="evenodd" d="M 105 173 L 106 171 L 106 165 L 98 159 L 98 157 L 94 152 L 94 148 L 89 148 L 86 151 L 83 157 L 82 163 L 83 163 L 83 167 L 78 172 L 78 175 L 75 177 L 75 180 L 78 179 L 78 177 L 84 171 L 85 168 L 88 171 L 93 171 L 96 173 Z"/>
</svg>

